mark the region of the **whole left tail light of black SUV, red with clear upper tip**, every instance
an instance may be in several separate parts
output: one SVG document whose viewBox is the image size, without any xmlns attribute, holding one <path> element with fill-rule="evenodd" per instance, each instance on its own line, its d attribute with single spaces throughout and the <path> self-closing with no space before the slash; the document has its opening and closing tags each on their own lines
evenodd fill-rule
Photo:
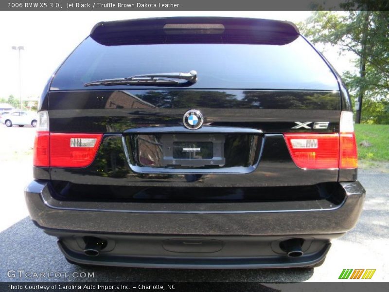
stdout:
<svg viewBox="0 0 389 292">
<path fill-rule="evenodd" d="M 86 167 L 91 164 L 103 134 L 50 133 L 47 111 L 38 113 L 34 143 L 34 165 Z"/>
</svg>

